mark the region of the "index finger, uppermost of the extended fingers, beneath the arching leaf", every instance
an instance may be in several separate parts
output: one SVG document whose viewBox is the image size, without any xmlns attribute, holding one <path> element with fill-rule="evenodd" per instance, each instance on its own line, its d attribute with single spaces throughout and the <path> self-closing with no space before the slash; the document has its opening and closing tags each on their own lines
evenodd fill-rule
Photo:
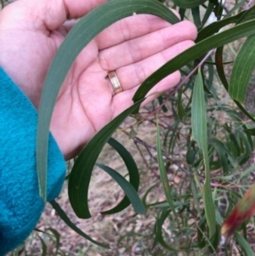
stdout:
<svg viewBox="0 0 255 256">
<path fill-rule="evenodd" d="M 172 11 L 178 16 L 176 10 L 172 9 Z M 133 15 L 109 26 L 105 31 L 99 33 L 95 40 L 98 43 L 99 50 L 102 50 L 167 26 L 171 26 L 171 24 L 154 15 Z"/>
</svg>

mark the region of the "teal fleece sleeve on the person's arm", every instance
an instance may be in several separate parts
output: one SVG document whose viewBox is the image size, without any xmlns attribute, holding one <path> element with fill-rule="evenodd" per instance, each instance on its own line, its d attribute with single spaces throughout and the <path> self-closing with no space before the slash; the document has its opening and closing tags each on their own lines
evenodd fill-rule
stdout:
<svg viewBox="0 0 255 256">
<path fill-rule="evenodd" d="M 0 256 L 26 240 L 44 203 L 36 164 L 37 111 L 0 68 Z M 65 160 L 50 135 L 47 199 L 59 195 Z"/>
</svg>

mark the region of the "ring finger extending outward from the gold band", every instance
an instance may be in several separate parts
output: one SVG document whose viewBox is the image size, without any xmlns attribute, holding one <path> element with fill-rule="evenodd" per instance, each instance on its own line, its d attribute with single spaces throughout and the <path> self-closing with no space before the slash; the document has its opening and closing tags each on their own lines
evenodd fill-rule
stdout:
<svg viewBox="0 0 255 256">
<path fill-rule="evenodd" d="M 118 77 L 123 90 L 138 86 L 168 60 L 172 60 L 175 56 L 194 44 L 195 43 L 190 40 L 183 41 L 173 45 L 171 48 L 161 51 L 161 53 L 152 55 L 145 60 L 117 69 L 116 76 Z"/>
</svg>

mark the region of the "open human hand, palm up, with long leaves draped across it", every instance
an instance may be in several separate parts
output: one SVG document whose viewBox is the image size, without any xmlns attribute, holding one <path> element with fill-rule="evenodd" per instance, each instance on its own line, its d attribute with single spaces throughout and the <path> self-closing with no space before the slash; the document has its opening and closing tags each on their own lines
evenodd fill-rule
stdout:
<svg viewBox="0 0 255 256">
<path fill-rule="evenodd" d="M 66 20 L 77 19 L 104 2 L 20 0 L 1 12 L 0 66 L 36 107 L 54 54 L 75 23 Z M 95 37 L 72 65 L 54 107 L 50 130 L 65 158 L 75 156 L 100 128 L 132 105 L 139 84 L 194 45 L 196 33 L 189 21 L 172 26 L 141 14 L 120 20 Z M 108 71 L 116 71 L 122 93 L 114 95 Z M 176 71 L 149 94 L 166 91 L 179 80 Z"/>
</svg>

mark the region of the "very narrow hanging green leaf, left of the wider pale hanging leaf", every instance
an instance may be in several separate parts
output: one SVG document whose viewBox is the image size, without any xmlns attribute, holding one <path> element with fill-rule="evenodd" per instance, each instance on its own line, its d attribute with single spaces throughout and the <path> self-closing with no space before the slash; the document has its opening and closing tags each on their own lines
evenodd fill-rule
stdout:
<svg viewBox="0 0 255 256">
<path fill-rule="evenodd" d="M 156 152 L 157 152 L 158 167 L 159 167 L 160 175 L 161 175 L 161 183 L 163 185 L 163 189 L 164 189 L 169 207 L 173 211 L 176 221 L 178 222 L 178 216 L 177 216 L 177 213 L 175 212 L 175 208 L 173 205 L 173 198 L 171 195 L 170 186 L 169 186 L 169 182 L 168 182 L 168 178 L 167 178 L 167 171 L 166 171 L 163 156 L 162 156 L 161 136 L 160 136 L 159 125 L 158 125 L 157 119 L 156 119 Z"/>
</svg>

